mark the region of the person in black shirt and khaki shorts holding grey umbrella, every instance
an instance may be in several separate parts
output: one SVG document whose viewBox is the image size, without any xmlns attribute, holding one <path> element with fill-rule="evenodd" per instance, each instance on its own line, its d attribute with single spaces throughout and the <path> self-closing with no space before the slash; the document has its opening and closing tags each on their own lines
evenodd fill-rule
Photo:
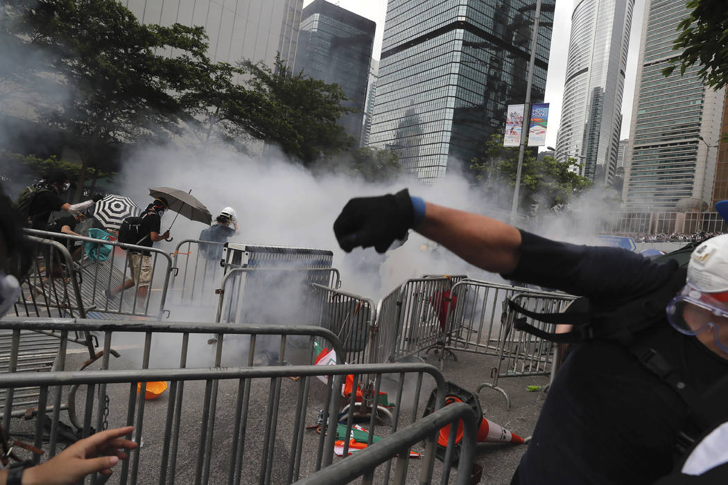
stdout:
<svg viewBox="0 0 728 485">
<path fill-rule="evenodd" d="M 151 247 L 155 242 L 169 239 L 169 230 L 165 231 L 163 234 L 159 234 L 159 231 L 161 231 L 160 225 L 162 224 L 162 215 L 167 209 L 169 209 L 169 204 L 167 204 L 167 201 L 162 197 L 154 199 L 154 201 L 146 207 L 146 210 L 142 215 L 143 225 L 141 235 L 143 235 L 143 238 L 136 244 L 137 246 Z M 124 289 L 136 286 L 138 301 L 143 307 L 144 300 L 146 300 L 147 294 L 149 294 L 149 285 L 151 284 L 151 252 L 132 251 L 129 254 L 128 261 L 131 278 L 124 281 L 123 284 L 116 286 L 116 288 L 112 288 L 111 291 L 108 292 L 107 296 L 114 298 L 116 297 L 116 294 L 124 291 Z M 104 292 L 106 292 L 106 290 L 104 290 Z"/>
</svg>

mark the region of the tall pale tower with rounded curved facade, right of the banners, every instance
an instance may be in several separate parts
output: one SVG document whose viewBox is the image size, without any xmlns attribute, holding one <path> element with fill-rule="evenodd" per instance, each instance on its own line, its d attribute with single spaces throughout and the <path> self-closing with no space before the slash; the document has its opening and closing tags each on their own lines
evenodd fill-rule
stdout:
<svg viewBox="0 0 728 485">
<path fill-rule="evenodd" d="M 561 160 L 584 156 L 582 175 L 612 185 L 622 128 L 622 91 L 634 0 L 582 0 L 571 15 L 561 127 Z"/>
</svg>

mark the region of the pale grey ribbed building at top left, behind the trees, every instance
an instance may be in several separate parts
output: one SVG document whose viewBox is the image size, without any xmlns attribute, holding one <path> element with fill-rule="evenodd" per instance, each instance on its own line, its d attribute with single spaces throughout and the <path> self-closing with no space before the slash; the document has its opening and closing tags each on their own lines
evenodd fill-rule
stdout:
<svg viewBox="0 0 728 485">
<path fill-rule="evenodd" d="M 293 63 L 304 0 L 119 0 L 141 23 L 201 25 L 213 61 Z M 170 52 L 173 54 L 173 52 Z"/>
</svg>

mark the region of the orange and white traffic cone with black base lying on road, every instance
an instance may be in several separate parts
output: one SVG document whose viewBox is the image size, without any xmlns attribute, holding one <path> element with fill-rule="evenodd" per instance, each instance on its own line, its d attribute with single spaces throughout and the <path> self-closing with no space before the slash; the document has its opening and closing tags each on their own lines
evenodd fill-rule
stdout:
<svg viewBox="0 0 728 485">
<path fill-rule="evenodd" d="M 427 406 L 424 408 L 424 416 L 431 414 L 435 410 L 435 399 L 437 398 L 437 389 L 433 389 L 430 393 L 430 398 L 427 400 Z M 445 405 L 453 404 L 456 402 L 463 402 L 472 407 L 475 411 L 476 416 L 483 416 L 483 412 L 480 410 L 480 401 L 478 396 L 471 393 L 468 390 L 460 388 L 458 385 L 452 382 L 445 383 Z M 448 446 L 448 439 L 450 438 L 451 425 L 447 425 L 440 429 L 438 433 L 438 446 L 435 450 L 436 456 L 440 460 L 445 458 L 445 450 Z M 457 462 L 460 456 L 460 444 L 462 443 L 462 420 L 458 420 L 457 430 L 455 434 L 455 449 L 453 450 L 453 462 Z M 483 417 L 480 420 L 480 427 L 478 428 L 478 443 L 511 443 L 521 444 L 523 438 L 509 430 L 503 428 L 496 422 L 487 420 Z"/>
</svg>

